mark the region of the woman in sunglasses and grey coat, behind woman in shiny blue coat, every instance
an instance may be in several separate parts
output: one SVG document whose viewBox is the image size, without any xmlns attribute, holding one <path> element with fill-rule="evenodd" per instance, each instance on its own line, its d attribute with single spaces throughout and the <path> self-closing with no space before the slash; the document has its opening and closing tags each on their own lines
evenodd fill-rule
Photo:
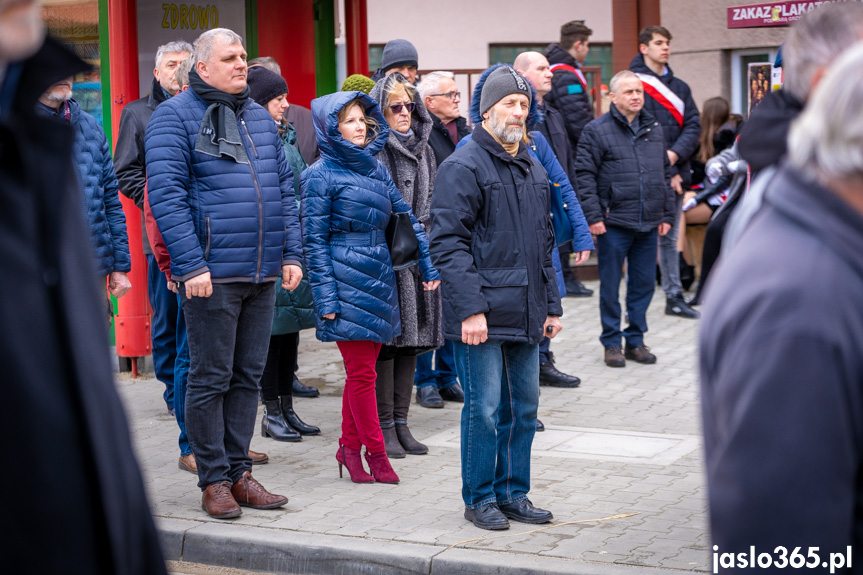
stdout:
<svg viewBox="0 0 863 575">
<path fill-rule="evenodd" d="M 405 202 L 423 227 L 428 226 L 436 163 L 428 139 L 432 119 L 417 89 L 395 72 L 378 81 L 369 94 L 390 127 L 378 160 L 387 167 Z M 402 332 L 381 347 L 375 393 L 387 455 L 424 455 L 428 447 L 414 439 L 407 416 L 417 355 L 443 345 L 439 281 L 426 282 L 414 266 L 396 272 Z"/>
</svg>

